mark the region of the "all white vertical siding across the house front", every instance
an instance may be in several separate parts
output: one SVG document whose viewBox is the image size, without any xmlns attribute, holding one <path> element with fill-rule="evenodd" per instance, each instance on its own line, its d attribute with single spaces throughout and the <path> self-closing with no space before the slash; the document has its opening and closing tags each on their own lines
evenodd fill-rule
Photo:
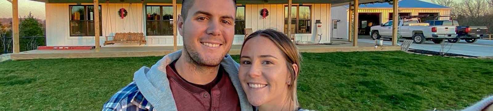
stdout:
<svg viewBox="0 0 493 111">
<path fill-rule="evenodd" d="M 94 37 L 70 37 L 70 9 L 69 5 L 76 3 L 46 3 L 46 42 L 48 46 L 66 45 L 94 45 Z M 92 5 L 92 3 L 82 3 Z M 172 5 L 170 3 L 147 3 L 145 5 Z M 284 27 L 284 5 L 287 4 L 246 4 L 246 28 L 253 31 L 272 28 L 281 31 Z M 303 4 L 312 8 L 312 34 L 296 34 L 297 40 L 314 41 L 316 37 L 316 20 L 322 22 L 321 42 L 330 42 L 330 28 L 332 19 L 330 15 L 331 4 Z M 132 9 L 130 9 L 132 7 Z M 105 36 L 114 33 L 144 33 L 145 35 L 145 7 L 142 3 L 101 3 L 102 30 L 100 43 L 103 45 Z M 108 12 L 109 8 L 109 12 Z M 125 8 L 128 15 L 121 19 L 118 10 Z M 269 10 L 269 16 L 262 19 L 260 10 Z M 177 13 L 181 11 L 181 4 L 177 5 Z M 111 20 L 108 20 L 111 19 Z M 242 44 L 244 35 L 235 35 L 233 44 Z M 182 37 L 178 34 L 177 44 L 182 45 Z M 147 44 L 140 46 L 173 46 L 173 36 L 146 36 Z M 106 46 L 139 46 L 138 44 L 114 44 Z"/>
</svg>

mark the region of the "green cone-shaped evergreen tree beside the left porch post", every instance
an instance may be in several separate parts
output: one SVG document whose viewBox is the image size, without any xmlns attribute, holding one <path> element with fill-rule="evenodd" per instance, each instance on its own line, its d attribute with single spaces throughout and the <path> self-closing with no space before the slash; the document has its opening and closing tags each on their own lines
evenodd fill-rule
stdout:
<svg viewBox="0 0 493 111">
<path fill-rule="evenodd" d="M 42 25 L 37 22 L 33 14 L 24 16 L 19 24 L 19 36 L 20 37 L 40 37 L 44 36 Z"/>
</svg>

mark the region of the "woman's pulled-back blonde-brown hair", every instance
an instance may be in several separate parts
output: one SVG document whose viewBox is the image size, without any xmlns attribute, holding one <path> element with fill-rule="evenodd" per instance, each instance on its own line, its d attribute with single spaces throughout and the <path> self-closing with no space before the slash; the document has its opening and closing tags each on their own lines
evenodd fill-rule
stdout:
<svg viewBox="0 0 493 111">
<path fill-rule="evenodd" d="M 301 69 L 301 61 L 302 57 L 301 54 L 298 52 L 298 48 L 296 45 L 289 39 L 286 35 L 282 34 L 282 32 L 273 30 L 273 29 L 266 29 L 266 30 L 259 30 L 256 31 L 252 34 L 250 34 L 248 37 L 245 38 L 243 41 L 243 46 L 245 46 L 246 41 L 248 41 L 251 38 L 254 37 L 267 37 L 269 38 L 272 42 L 274 42 L 279 49 L 281 49 L 284 58 L 286 58 L 286 66 L 287 69 L 289 70 L 289 73 L 291 74 L 291 85 L 288 86 L 289 94 L 291 96 L 288 96 L 292 102 L 293 105 L 290 107 L 293 107 L 294 109 L 297 109 L 299 107 L 298 103 L 298 96 L 296 95 L 296 84 L 297 84 L 297 78 Z M 242 46 L 242 50 L 243 50 Z M 240 52 L 241 55 L 242 52 Z M 292 67 L 292 64 L 298 65 L 297 72 Z"/>
</svg>

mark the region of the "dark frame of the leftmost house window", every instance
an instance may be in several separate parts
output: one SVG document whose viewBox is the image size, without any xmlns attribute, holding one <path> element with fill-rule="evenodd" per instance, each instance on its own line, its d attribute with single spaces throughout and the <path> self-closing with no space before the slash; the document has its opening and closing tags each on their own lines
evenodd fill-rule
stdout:
<svg viewBox="0 0 493 111">
<path fill-rule="evenodd" d="M 84 6 L 84 17 L 83 17 L 84 20 L 72 20 L 72 6 Z M 95 23 L 95 20 L 88 20 L 88 14 L 87 14 L 88 13 L 88 9 L 89 9 L 89 8 L 87 8 L 88 6 L 93 6 L 94 7 L 94 5 L 82 5 L 82 4 L 69 5 L 69 15 L 70 15 L 69 16 L 69 37 L 92 37 L 92 36 L 96 36 L 96 34 L 94 34 L 94 35 L 90 35 L 89 34 L 89 28 L 90 28 L 89 27 L 90 26 L 89 24 L 91 22 L 94 22 Z M 102 5 L 99 5 L 99 10 L 100 10 L 99 11 L 99 13 L 100 13 L 100 17 L 99 17 L 99 30 L 100 31 L 99 31 L 99 33 L 100 33 L 100 36 L 103 36 L 103 22 L 102 22 L 103 19 L 102 19 L 102 16 L 101 16 L 103 12 L 101 11 L 102 10 L 102 7 L 101 6 Z M 94 14 L 95 13 L 94 13 L 94 8 L 93 8 L 93 17 L 94 17 Z M 72 35 L 71 22 L 83 22 L 83 24 L 86 26 L 85 27 L 85 32 L 82 32 L 84 35 L 82 35 L 82 36 L 73 36 Z M 94 32 L 96 32 L 96 31 L 94 31 Z"/>
</svg>

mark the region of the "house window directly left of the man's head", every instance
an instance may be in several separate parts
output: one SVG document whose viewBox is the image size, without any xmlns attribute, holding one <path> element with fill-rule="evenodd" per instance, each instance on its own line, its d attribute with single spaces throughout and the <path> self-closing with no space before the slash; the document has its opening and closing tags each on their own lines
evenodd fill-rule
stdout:
<svg viewBox="0 0 493 111">
<path fill-rule="evenodd" d="M 173 6 L 145 6 L 147 36 L 173 35 Z"/>
</svg>

